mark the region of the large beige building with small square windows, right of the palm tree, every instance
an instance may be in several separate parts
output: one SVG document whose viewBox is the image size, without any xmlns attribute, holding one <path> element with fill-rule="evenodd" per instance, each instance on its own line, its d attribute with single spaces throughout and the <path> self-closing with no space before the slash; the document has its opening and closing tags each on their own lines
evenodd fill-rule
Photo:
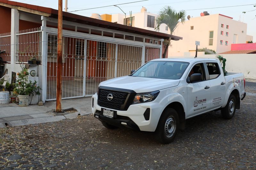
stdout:
<svg viewBox="0 0 256 170">
<path fill-rule="evenodd" d="M 177 27 L 174 35 L 182 36 L 183 40 L 172 42 L 168 56 L 180 56 L 184 55 L 184 52 L 195 51 L 195 41 L 200 41 L 199 48 L 212 49 L 218 54 L 229 51 L 231 44 L 252 40 L 252 36 L 246 34 L 246 23 L 222 14 L 201 14 L 201 17 L 190 18 Z"/>
</svg>

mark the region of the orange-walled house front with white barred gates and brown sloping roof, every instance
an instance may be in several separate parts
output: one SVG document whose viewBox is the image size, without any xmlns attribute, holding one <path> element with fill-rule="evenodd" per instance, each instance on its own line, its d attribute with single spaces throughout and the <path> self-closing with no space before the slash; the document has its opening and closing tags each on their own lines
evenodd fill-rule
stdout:
<svg viewBox="0 0 256 170">
<path fill-rule="evenodd" d="M 8 74 L 29 65 L 42 92 L 38 100 L 56 100 L 58 10 L 0 0 L 0 57 Z M 129 75 L 161 58 L 164 39 L 181 37 L 63 12 L 62 99 L 91 96 L 101 81 Z M 154 42 L 154 43 L 149 43 Z"/>
</svg>

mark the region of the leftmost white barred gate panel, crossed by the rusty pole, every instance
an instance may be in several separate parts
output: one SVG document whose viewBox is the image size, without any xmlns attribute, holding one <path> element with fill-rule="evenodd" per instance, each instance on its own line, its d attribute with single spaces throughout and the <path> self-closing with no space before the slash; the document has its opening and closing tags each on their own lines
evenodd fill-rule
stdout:
<svg viewBox="0 0 256 170">
<path fill-rule="evenodd" d="M 84 39 L 63 37 L 62 99 L 84 96 Z M 48 34 L 46 100 L 56 100 L 57 35 Z"/>
</svg>

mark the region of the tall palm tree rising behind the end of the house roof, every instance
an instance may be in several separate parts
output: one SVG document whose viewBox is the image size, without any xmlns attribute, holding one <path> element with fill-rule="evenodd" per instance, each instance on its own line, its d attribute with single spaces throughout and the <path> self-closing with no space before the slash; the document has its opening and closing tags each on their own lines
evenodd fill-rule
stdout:
<svg viewBox="0 0 256 170">
<path fill-rule="evenodd" d="M 170 34 L 174 32 L 174 30 L 177 28 L 179 22 L 182 24 L 185 22 L 185 17 L 186 17 L 186 11 L 175 11 L 173 8 L 170 6 L 164 6 L 161 11 L 158 14 L 158 17 L 156 18 L 156 24 L 155 24 L 155 30 L 159 31 L 159 27 L 161 24 L 166 24 L 170 30 Z M 163 58 L 165 58 L 165 55 L 167 53 L 167 49 L 170 46 L 171 43 L 171 38 L 168 40 L 164 40 L 164 54 Z"/>
</svg>

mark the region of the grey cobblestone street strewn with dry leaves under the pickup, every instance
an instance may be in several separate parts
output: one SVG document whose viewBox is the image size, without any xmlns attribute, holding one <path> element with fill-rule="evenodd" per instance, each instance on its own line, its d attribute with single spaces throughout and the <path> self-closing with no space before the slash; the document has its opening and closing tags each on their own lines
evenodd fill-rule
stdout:
<svg viewBox="0 0 256 170">
<path fill-rule="evenodd" d="M 92 115 L 2 128 L 0 169 L 256 169 L 255 100 L 247 95 L 230 120 L 220 111 L 188 119 L 167 145 L 153 133 L 108 130 Z"/>
</svg>

